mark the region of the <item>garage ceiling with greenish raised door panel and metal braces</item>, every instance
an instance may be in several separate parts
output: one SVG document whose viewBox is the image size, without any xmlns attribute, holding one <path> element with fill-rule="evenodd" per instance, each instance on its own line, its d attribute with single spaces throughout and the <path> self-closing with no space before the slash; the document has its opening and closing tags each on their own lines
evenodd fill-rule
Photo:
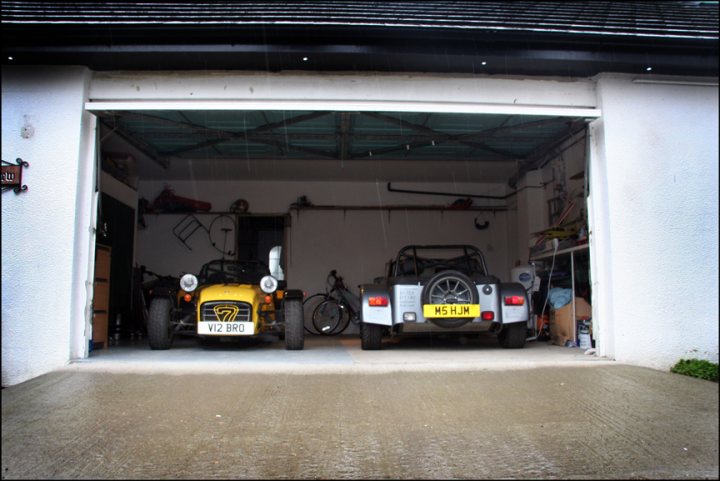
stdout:
<svg viewBox="0 0 720 481">
<path fill-rule="evenodd" d="M 146 157 L 144 180 L 506 182 L 582 130 L 585 118 L 437 112 L 96 112 L 105 154 Z"/>
</svg>

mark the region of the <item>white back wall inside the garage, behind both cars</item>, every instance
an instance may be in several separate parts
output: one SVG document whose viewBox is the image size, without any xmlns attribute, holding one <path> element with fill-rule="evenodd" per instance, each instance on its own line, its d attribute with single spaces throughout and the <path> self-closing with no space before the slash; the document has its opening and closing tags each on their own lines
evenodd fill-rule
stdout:
<svg viewBox="0 0 720 481">
<path fill-rule="evenodd" d="M 152 202 L 164 186 L 141 182 L 140 195 Z M 301 195 L 315 205 L 327 206 L 448 206 L 455 200 L 388 192 L 385 183 L 184 181 L 171 186 L 177 195 L 210 202 L 213 211 L 228 210 L 234 200 L 242 197 L 249 202 L 250 213 L 271 215 L 287 214 L 290 204 Z M 478 194 L 497 194 L 504 189 L 492 184 L 404 184 L 403 188 Z M 186 215 L 145 215 L 147 228 L 138 231 L 138 264 L 158 274 L 178 275 L 197 272 L 204 262 L 222 255 L 202 229 L 186 240 L 192 250 L 173 235 L 173 228 Z M 215 217 L 194 215 L 205 227 Z M 476 217 L 481 223 L 489 221 L 489 228 L 478 230 Z M 357 292 L 357 284 L 382 275 L 385 262 L 406 244 L 467 243 L 483 250 L 492 272 L 507 280 L 511 269 L 507 232 L 505 212 L 292 210 L 285 274 L 291 287 L 316 292 L 324 289 L 330 269 L 338 269 Z"/>
</svg>

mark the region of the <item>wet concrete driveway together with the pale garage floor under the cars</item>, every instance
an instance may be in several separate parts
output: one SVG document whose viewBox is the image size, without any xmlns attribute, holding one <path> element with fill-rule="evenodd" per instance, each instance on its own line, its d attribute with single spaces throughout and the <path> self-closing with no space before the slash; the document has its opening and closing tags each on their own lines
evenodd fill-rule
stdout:
<svg viewBox="0 0 720 481">
<path fill-rule="evenodd" d="M 533 342 L 144 341 L 2 391 L 2 478 L 718 479 L 718 384 Z"/>
</svg>

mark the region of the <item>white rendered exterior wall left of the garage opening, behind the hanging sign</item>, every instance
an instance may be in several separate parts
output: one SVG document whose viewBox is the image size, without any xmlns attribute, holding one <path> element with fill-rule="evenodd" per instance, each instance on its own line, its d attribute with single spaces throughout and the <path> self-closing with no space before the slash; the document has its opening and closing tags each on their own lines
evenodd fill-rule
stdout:
<svg viewBox="0 0 720 481">
<path fill-rule="evenodd" d="M 89 71 L 2 69 L 2 158 L 30 165 L 2 194 L 2 385 L 87 355 L 94 236 Z"/>
</svg>

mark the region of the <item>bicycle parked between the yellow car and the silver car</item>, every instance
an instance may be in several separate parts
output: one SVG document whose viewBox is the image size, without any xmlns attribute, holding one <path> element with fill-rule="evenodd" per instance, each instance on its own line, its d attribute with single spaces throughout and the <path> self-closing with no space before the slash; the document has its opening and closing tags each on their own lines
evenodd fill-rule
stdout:
<svg viewBox="0 0 720 481">
<path fill-rule="evenodd" d="M 335 336 L 345 331 L 350 322 L 360 323 L 360 299 L 350 292 L 335 269 L 327 276 L 325 292 L 305 299 L 303 309 L 315 329 L 313 332 L 305 327 L 311 334 Z"/>
</svg>

